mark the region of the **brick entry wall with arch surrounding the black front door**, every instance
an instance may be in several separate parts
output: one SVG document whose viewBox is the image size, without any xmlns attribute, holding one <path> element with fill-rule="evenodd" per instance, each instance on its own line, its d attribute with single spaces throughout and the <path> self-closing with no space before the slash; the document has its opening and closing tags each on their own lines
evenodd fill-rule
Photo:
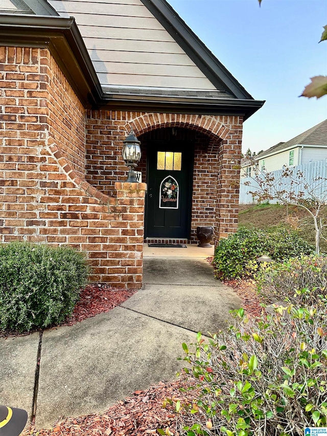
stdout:
<svg viewBox="0 0 327 436">
<path fill-rule="evenodd" d="M 165 140 L 167 134 L 164 130 L 169 126 L 182 128 L 183 137 L 189 137 L 194 142 L 192 242 L 197 242 L 198 225 L 214 225 L 216 241 L 236 231 L 241 117 L 87 111 L 86 178 L 107 195 L 115 195 L 114 182 L 127 176 L 127 168 L 122 160 L 122 141 L 130 126 L 133 126 L 142 141 L 143 157 L 137 169 L 142 170 L 144 181 L 148 139 L 161 137 Z M 156 129 L 162 132 L 156 134 Z M 230 164 L 232 158 L 234 165 Z M 219 223 L 216 222 L 217 218 Z"/>
</svg>

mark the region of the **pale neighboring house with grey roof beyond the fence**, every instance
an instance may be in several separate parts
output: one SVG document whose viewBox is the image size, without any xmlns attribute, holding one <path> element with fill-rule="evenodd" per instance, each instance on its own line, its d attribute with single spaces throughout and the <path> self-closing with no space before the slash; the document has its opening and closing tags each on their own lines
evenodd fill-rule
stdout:
<svg viewBox="0 0 327 436">
<path fill-rule="evenodd" d="M 268 172 L 323 159 L 327 159 L 327 120 L 255 156 L 259 170 Z"/>
</svg>

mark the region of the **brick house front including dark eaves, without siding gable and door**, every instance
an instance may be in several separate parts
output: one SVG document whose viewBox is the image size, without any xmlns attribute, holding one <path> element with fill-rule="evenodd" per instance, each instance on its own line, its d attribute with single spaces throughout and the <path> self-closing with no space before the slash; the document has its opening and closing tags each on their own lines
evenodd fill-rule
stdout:
<svg viewBox="0 0 327 436">
<path fill-rule="evenodd" d="M 108 101 L 74 20 L 1 20 L 0 242 L 69 244 L 87 251 L 91 280 L 141 287 L 152 235 L 144 233 L 146 183 L 124 182 L 131 127 L 143 181 L 154 143 L 173 135 L 190 145 L 188 233 L 168 239 L 196 242 L 196 227 L 211 225 L 217 243 L 236 230 L 243 120 L 263 102 Z"/>
</svg>

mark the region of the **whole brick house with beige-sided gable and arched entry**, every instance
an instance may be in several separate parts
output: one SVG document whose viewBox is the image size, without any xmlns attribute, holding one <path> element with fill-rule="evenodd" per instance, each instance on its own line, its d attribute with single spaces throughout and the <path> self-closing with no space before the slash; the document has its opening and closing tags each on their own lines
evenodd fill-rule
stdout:
<svg viewBox="0 0 327 436">
<path fill-rule="evenodd" d="M 144 238 L 236 230 L 243 121 L 264 102 L 165 0 L 0 0 L 0 39 L 0 242 L 70 244 L 92 280 L 139 288 Z M 130 128 L 143 183 L 124 182 Z"/>
</svg>

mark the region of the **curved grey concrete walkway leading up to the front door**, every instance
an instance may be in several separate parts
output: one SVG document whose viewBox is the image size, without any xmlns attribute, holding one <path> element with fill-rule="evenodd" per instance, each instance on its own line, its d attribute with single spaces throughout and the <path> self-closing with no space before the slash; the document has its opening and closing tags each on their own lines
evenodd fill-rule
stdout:
<svg viewBox="0 0 327 436">
<path fill-rule="evenodd" d="M 175 378 L 181 343 L 224 327 L 228 311 L 240 307 L 213 277 L 205 260 L 212 248 L 145 247 L 144 254 L 144 287 L 121 306 L 72 327 L 0 339 L 0 404 L 25 408 L 30 417 L 34 408 L 40 428 L 102 412 Z"/>
</svg>

